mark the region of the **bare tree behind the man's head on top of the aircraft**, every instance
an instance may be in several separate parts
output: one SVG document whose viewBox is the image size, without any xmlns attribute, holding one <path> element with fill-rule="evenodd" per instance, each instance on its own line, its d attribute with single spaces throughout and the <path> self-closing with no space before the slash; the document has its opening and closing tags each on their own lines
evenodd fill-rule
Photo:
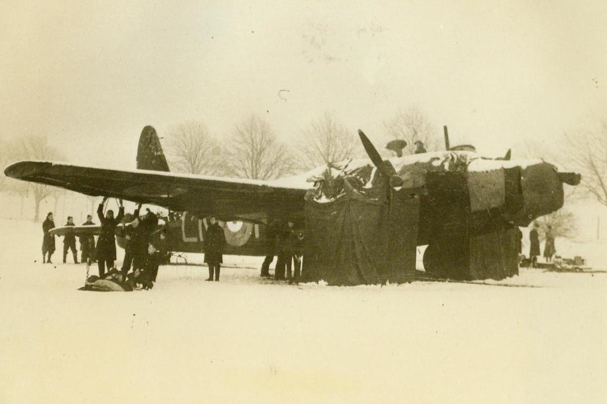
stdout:
<svg viewBox="0 0 607 404">
<path fill-rule="evenodd" d="M 399 111 L 391 120 L 384 122 L 384 128 L 389 140 L 402 139 L 407 142 L 403 150 L 405 154 L 413 153 L 418 140 L 424 143 L 429 152 L 438 150 L 438 130 L 417 107 Z"/>
</svg>

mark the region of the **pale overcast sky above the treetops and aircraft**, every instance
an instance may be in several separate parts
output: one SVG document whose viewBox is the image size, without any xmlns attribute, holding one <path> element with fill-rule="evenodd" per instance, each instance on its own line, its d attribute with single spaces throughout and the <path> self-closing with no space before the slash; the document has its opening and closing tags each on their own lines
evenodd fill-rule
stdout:
<svg viewBox="0 0 607 404">
<path fill-rule="evenodd" d="M 256 113 L 287 139 L 329 111 L 373 140 L 417 106 L 501 154 L 607 113 L 604 1 L 178 3 L 3 1 L 0 136 L 134 167 L 147 124 Z"/>
</svg>

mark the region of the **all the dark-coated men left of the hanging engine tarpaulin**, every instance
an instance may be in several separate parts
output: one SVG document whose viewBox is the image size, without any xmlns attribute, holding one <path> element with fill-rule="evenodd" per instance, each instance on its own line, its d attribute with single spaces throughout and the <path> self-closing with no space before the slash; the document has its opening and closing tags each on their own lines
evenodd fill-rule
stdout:
<svg viewBox="0 0 607 404">
<path fill-rule="evenodd" d="M 80 236 L 81 262 L 92 263 L 97 260 L 99 276 L 106 277 L 106 269 L 109 272 L 114 269 L 116 260 L 116 240 L 115 232 L 118 224 L 124 218 L 123 201 L 119 200 L 120 208 L 118 215 L 114 216 L 114 211 L 109 209 L 103 212 L 103 206 L 107 197 L 98 206 L 97 215 L 101 223 L 100 235 L 95 245 L 93 235 Z M 141 204 L 133 214 L 133 219 L 129 226 L 124 226 L 124 261 L 120 271 L 112 272 L 112 279 L 118 278 L 119 281 L 131 280 L 131 283 L 141 284 L 144 289 L 152 288 L 158 274 L 158 266 L 161 261 L 161 255 L 158 252 L 157 242 L 152 240 L 152 233 L 158 224 L 158 217 L 149 209 L 146 215 L 140 217 Z M 95 225 L 90 215 L 84 226 Z M 73 218 L 68 217 L 66 226 L 75 226 Z M 55 251 L 55 237 L 49 233 L 50 229 L 55 227 L 52 212 L 47 215 L 42 223 L 44 239 L 42 241 L 42 260 L 51 262 L 50 258 Z M 270 277 L 270 263 L 277 255 L 276 267 L 274 269 L 274 278 L 276 280 L 289 280 L 291 283 L 297 283 L 301 274 L 302 249 L 304 234 L 295 227 L 294 221 L 288 221 L 286 224 L 273 223 L 268 226 L 270 242 L 268 243 L 268 252 L 262 264 L 262 276 Z M 206 229 L 203 238 L 205 258 L 204 262 L 208 264 L 209 277 L 207 281 L 219 281 L 221 265 L 223 263 L 223 249 L 225 247 L 225 234 L 215 217 L 209 217 L 209 226 Z M 63 262 L 66 262 L 66 256 L 69 249 L 72 250 L 73 260 L 78 263 L 76 255 L 76 239 L 73 234 L 64 236 Z M 129 271 L 132 272 L 129 273 Z M 294 269 L 294 271 L 293 271 Z M 117 275 L 120 275 L 117 277 Z"/>
</svg>

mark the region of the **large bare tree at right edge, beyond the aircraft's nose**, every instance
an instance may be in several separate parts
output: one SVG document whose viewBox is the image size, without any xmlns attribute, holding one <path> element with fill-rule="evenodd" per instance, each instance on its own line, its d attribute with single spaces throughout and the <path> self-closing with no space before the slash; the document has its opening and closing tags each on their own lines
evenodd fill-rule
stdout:
<svg viewBox="0 0 607 404">
<path fill-rule="evenodd" d="M 607 121 L 565 135 L 560 162 L 582 174 L 583 194 L 607 206 Z"/>
</svg>

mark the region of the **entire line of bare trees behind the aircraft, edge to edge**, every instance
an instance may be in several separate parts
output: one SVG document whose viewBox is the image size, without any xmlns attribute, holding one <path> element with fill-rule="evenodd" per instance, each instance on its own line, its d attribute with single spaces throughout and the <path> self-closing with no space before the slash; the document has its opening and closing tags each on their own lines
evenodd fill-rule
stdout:
<svg viewBox="0 0 607 404">
<path fill-rule="evenodd" d="M 383 124 L 383 140 L 386 143 L 394 139 L 407 141 L 405 153 L 412 153 L 413 144 L 418 140 L 428 151 L 441 149 L 442 133 L 417 107 L 398 111 Z M 549 160 L 565 169 L 582 173 L 581 186 L 568 197 L 594 198 L 607 206 L 607 120 L 584 124 L 575 132 L 565 133 L 563 141 L 555 144 L 560 145 L 560 149 L 548 152 L 545 145 L 527 144 L 514 158 L 533 157 L 540 152 L 548 155 Z M 382 144 L 376 146 L 386 157 L 392 153 L 383 149 Z M 356 133 L 328 112 L 291 136 L 277 136 L 271 124 L 256 115 L 240 121 L 221 138 L 203 121 L 187 121 L 168 130 L 163 147 L 169 167 L 175 172 L 256 180 L 273 180 L 347 158 L 366 157 Z M 1 166 L 18 160 L 65 159 L 44 135 L 24 136 L 13 141 L 0 138 Z M 22 201 L 33 197 L 36 221 L 41 201 L 53 198 L 56 206 L 61 195 L 55 187 L 14 181 L 4 173 L 0 176 L 0 192 L 19 195 Z M 571 226 L 573 215 L 566 210 L 561 209 L 540 221 L 556 228 L 558 236 L 575 234 L 575 226 Z"/>
</svg>

